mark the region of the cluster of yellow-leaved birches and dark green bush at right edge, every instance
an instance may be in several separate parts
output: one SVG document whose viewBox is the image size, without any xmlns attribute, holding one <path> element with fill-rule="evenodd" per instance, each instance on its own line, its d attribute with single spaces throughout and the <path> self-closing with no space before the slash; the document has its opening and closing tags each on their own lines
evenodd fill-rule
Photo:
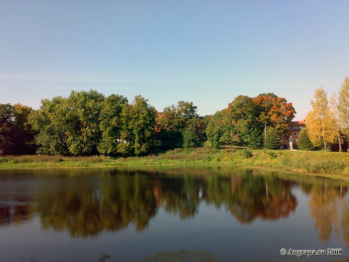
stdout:
<svg viewBox="0 0 349 262">
<path fill-rule="evenodd" d="M 344 79 L 340 91 L 330 101 L 323 86 L 315 91 L 313 110 L 306 117 L 306 128 L 299 134 L 301 149 L 346 151 L 349 138 L 349 77 Z"/>
</svg>

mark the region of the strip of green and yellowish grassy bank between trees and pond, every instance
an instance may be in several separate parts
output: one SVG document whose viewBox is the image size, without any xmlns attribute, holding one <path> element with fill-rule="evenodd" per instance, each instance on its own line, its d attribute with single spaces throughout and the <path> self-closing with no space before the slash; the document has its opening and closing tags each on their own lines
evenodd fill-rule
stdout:
<svg viewBox="0 0 349 262">
<path fill-rule="evenodd" d="M 349 174 L 349 154 L 289 150 L 175 149 L 159 155 L 112 158 L 106 156 L 6 156 L 0 168 L 102 167 L 162 165 L 267 166 L 308 173 Z"/>
</svg>

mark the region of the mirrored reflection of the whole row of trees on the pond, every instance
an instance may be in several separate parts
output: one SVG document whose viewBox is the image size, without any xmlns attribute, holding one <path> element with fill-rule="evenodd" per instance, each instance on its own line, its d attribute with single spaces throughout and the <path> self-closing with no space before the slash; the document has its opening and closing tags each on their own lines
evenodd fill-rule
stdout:
<svg viewBox="0 0 349 262">
<path fill-rule="evenodd" d="M 43 229 L 75 238 L 130 224 L 141 232 L 159 209 L 185 220 L 199 213 L 201 203 L 224 208 L 243 224 L 275 221 L 295 212 L 292 191 L 300 188 L 309 195 L 319 238 L 328 243 L 332 234 L 343 236 L 349 247 L 348 185 L 340 181 L 219 167 L 6 172 L 0 178 L 0 226 L 38 214 Z"/>
</svg>

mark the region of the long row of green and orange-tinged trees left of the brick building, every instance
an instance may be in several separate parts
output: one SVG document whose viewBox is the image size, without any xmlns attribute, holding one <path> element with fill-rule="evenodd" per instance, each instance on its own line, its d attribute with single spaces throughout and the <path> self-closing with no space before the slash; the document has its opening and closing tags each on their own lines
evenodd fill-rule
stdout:
<svg viewBox="0 0 349 262">
<path fill-rule="evenodd" d="M 192 102 L 158 112 L 142 96 L 130 103 L 95 90 L 43 99 L 38 110 L 0 104 L 0 155 L 141 156 L 206 141 L 214 148 L 231 143 L 255 148 L 264 141 L 265 123 L 267 136 L 274 132 L 278 142 L 296 113 L 273 93 L 240 95 L 213 116 L 196 112 Z"/>
</svg>

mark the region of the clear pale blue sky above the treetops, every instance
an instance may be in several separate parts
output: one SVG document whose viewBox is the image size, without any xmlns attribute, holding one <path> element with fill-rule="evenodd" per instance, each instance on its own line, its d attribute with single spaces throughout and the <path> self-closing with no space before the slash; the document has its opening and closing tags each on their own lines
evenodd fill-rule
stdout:
<svg viewBox="0 0 349 262">
<path fill-rule="evenodd" d="M 311 110 L 349 75 L 348 0 L 1 0 L 0 103 L 95 89 L 192 101 L 200 115 L 273 92 Z"/>
</svg>

